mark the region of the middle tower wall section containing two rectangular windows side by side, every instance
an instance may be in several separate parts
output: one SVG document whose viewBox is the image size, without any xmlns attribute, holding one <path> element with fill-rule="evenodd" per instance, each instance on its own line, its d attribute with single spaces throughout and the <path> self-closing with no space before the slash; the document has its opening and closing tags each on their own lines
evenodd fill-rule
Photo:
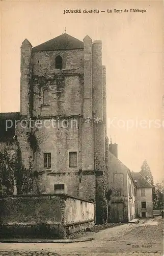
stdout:
<svg viewBox="0 0 164 256">
<path fill-rule="evenodd" d="M 52 173 L 78 172 L 81 166 L 78 118 L 68 120 L 67 128 L 63 127 L 61 120 L 56 127 L 51 126 L 51 120 L 42 121 L 43 127 L 36 133 L 38 141 L 41 141 L 36 157 L 36 169 L 39 172 L 46 170 Z M 45 125 L 50 127 L 46 128 Z M 69 152 L 77 152 L 77 167 L 69 167 Z M 51 168 L 49 169 L 44 168 L 44 153 L 51 153 Z"/>
</svg>

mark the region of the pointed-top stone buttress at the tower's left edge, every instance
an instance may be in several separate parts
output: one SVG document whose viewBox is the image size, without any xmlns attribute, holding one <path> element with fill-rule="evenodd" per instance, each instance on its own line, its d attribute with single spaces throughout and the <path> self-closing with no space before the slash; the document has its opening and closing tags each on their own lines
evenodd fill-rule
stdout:
<svg viewBox="0 0 164 256">
<path fill-rule="evenodd" d="M 27 125 L 32 116 L 33 108 L 33 64 L 32 45 L 25 39 L 21 45 L 20 67 L 20 120 L 17 122 L 16 136 L 21 150 L 22 162 L 26 168 L 31 165 L 32 151 L 28 143 L 28 134 L 31 132 Z"/>
</svg>

